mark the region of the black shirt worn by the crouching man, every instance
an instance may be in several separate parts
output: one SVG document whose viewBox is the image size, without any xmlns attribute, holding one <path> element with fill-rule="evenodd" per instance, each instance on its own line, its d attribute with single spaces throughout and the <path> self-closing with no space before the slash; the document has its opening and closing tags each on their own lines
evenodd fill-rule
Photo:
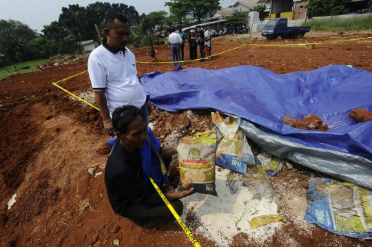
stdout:
<svg viewBox="0 0 372 247">
<path fill-rule="evenodd" d="M 125 216 L 128 206 L 164 204 L 158 193 L 147 191 L 139 177 L 143 173 L 138 150 L 130 153 L 116 140 L 105 167 L 107 196 L 114 212 Z"/>
</svg>

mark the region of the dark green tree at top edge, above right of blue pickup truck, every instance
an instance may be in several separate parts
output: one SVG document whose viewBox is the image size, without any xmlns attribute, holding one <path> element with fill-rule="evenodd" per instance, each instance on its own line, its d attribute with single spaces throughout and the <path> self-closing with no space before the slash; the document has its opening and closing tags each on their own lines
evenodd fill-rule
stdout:
<svg viewBox="0 0 372 247">
<path fill-rule="evenodd" d="M 347 8 L 347 3 L 350 1 L 351 0 L 312 0 L 307 8 L 313 17 L 339 15 L 349 11 L 349 8 Z"/>
</svg>

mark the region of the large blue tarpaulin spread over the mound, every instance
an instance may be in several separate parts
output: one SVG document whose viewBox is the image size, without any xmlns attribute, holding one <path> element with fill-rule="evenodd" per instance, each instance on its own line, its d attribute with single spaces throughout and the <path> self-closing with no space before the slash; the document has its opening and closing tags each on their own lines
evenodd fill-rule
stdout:
<svg viewBox="0 0 372 247">
<path fill-rule="evenodd" d="M 247 136 L 251 140 L 260 136 L 261 139 L 254 141 L 280 158 L 293 155 L 293 147 L 307 149 L 309 157 L 331 152 L 335 154 L 331 162 L 338 162 L 340 158 L 348 169 L 361 166 L 363 173 L 369 171 L 367 175 L 371 175 L 370 180 L 372 178 L 372 121 L 357 123 L 349 116 L 353 109 L 372 111 L 371 72 L 330 65 L 309 72 L 276 74 L 261 67 L 239 66 L 214 70 L 191 68 L 164 74 L 153 72 L 145 74 L 141 80 L 150 103 L 156 107 L 167 111 L 206 109 L 238 116 L 241 125 L 247 124 L 248 129 L 260 132 L 251 136 L 246 128 Z M 329 130 L 309 131 L 283 124 L 286 116 L 301 120 L 311 114 L 321 118 Z M 278 142 L 273 141 L 273 147 L 267 147 L 270 141 L 262 138 L 276 138 L 282 143 L 276 147 Z M 283 138 L 285 140 L 281 140 Z M 311 151 L 316 153 L 311 154 Z M 321 164 L 313 167 L 299 158 L 291 160 L 334 175 L 334 169 L 322 169 Z M 337 173 L 345 170 L 338 169 Z M 349 178 L 348 175 L 338 177 Z M 350 182 L 355 182 L 358 173 L 353 177 Z M 371 182 L 359 182 L 359 185 L 372 188 Z"/>
</svg>

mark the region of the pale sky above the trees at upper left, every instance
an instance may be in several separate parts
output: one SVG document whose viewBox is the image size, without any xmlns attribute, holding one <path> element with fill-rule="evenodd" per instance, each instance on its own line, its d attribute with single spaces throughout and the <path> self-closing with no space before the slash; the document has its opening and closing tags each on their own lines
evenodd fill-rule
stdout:
<svg viewBox="0 0 372 247">
<path fill-rule="evenodd" d="M 133 6 L 140 15 L 161 10 L 169 12 L 169 8 L 164 6 L 166 1 L 170 0 L 101 0 L 101 2 L 125 3 L 127 6 Z M 95 2 L 96 0 L 0 0 L 0 19 L 21 21 L 29 25 L 31 29 L 40 32 L 43 25 L 58 21 L 62 7 L 68 8 L 69 4 L 79 4 L 79 6 L 86 7 Z M 236 0 L 220 0 L 220 5 L 225 8 L 235 2 Z"/>
</svg>

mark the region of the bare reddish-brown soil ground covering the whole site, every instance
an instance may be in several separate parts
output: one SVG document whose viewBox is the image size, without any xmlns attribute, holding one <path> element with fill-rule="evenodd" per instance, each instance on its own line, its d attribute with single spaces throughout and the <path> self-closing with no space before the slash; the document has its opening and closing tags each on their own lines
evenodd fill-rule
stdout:
<svg viewBox="0 0 372 247">
<path fill-rule="evenodd" d="M 372 35 L 333 34 L 284 41 L 256 39 L 252 43 L 304 43 L 366 36 Z M 233 36 L 214 39 L 212 53 L 242 44 Z M 171 61 L 168 45 L 158 46 L 156 50 L 159 61 Z M 149 49 L 133 51 L 137 61 L 149 61 Z M 188 58 L 187 47 L 185 58 Z M 372 43 L 370 39 L 332 43 L 316 45 L 312 50 L 250 46 L 204 63 L 185 63 L 183 67 L 220 69 L 243 64 L 265 67 L 279 74 L 330 64 L 352 65 L 372 72 Z M 137 68 L 140 75 L 174 70 L 169 64 L 138 63 Z M 107 154 L 101 153 L 109 138 L 102 130 L 101 116 L 96 110 L 70 100 L 68 94 L 51 84 L 86 69 L 86 58 L 79 58 L 0 80 L 3 105 L 0 107 L 0 246 L 112 246 L 114 239 L 120 240 L 120 246 L 192 246 L 176 222 L 143 230 L 115 215 L 107 200 L 103 175 L 92 176 L 87 172 L 88 167 L 105 164 L 107 159 Z M 92 90 L 87 73 L 59 85 L 74 94 Z M 172 113 L 152 107 L 150 120 L 163 144 L 172 144 L 174 138 L 212 126 L 208 111 Z M 103 171 L 103 166 L 96 169 L 96 173 Z M 172 171 L 176 179 L 176 167 Z M 272 178 L 289 221 L 265 242 L 253 241 L 240 232 L 231 239 L 231 246 L 369 246 L 370 241 L 338 236 L 302 220 L 302 224 L 296 224 L 294 219 L 303 217 L 304 213 L 296 209 L 296 198 L 306 196 L 310 173 L 287 166 Z M 15 193 L 17 202 L 8 210 L 7 202 Z M 193 215 L 187 215 L 187 219 L 198 225 Z M 202 246 L 216 246 L 212 239 L 194 234 Z"/>
</svg>

